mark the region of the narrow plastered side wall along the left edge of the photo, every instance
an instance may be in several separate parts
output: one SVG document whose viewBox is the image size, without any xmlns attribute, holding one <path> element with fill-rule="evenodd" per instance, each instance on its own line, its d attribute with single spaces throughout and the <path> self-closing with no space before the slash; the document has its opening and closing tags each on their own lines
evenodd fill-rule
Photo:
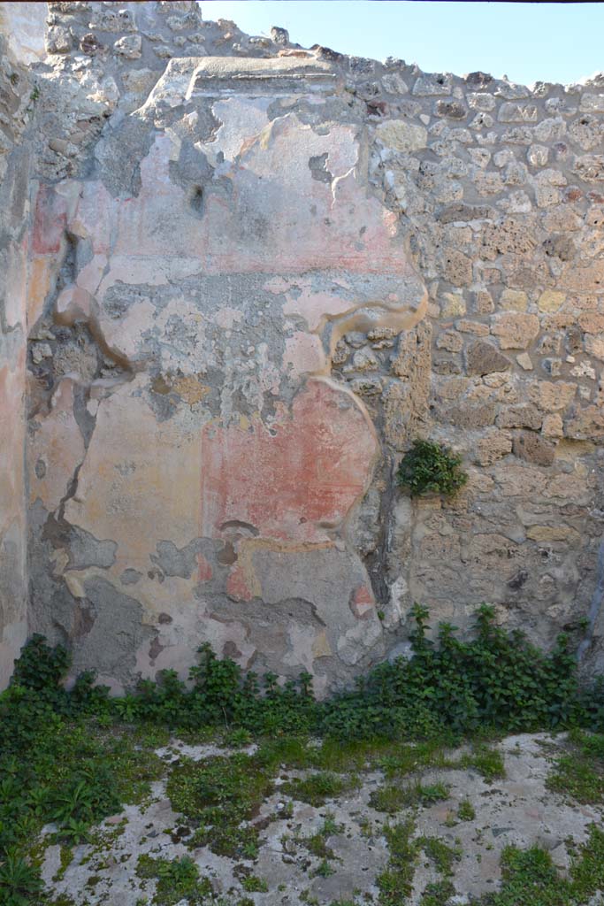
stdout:
<svg viewBox="0 0 604 906">
<path fill-rule="evenodd" d="M 0 689 L 27 636 L 25 375 L 28 178 L 34 59 L 27 29 L 0 4 Z M 34 6 L 34 4 L 24 4 Z M 40 36 L 42 38 L 42 31 Z M 43 43 L 40 43 L 43 50 Z"/>
</svg>

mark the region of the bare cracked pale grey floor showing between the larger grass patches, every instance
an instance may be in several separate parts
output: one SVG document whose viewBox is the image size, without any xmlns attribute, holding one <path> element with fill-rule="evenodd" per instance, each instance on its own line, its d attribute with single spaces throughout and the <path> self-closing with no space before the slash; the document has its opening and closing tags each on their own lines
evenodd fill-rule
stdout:
<svg viewBox="0 0 604 906">
<path fill-rule="evenodd" d="M 400 891 L 401 906 L 426 902 L 422 898 L 430 885 L 434 889 L 445 881 L 455 892 L 448 887 L 438 901 L 443 906 L 482 902 L 501 885 L 505 847 L 541 847 L 563 877 L 573 846 L 587 841 L 590 826 L 602 824 L 602 805 L 580 804 L 570 793 L 548 786 L 553 763 L 566 747 L 563 735 L 506 737 L 489 747 L 501 756 L 500 776 L 468 766 L 468 747 L 447 751 L 439 766 L 412 769 L 394 780 L 391 771 L 388 776 L 388 758 L 369 756 L 352 771 L 327 774 L 292 769 L 286 761 L 273 764 L 265 795 L 241 823 L 238 851 L 227 855 L 211 834 L 209 843 L 197 845 L 200 823 L 175 810 L 173 778 L 183 769 L 197 776 L 200 768 L 219 766 L 228 786 L 234 783 L 235 765 L 252 764 L 258 749 L 188 745 L 172 738 L 155 749 L 166 765 L 165 776 L 152 783 L 150 795 L 139 805 L 128 805 L 98 825 L 90 842 L 74 846 L 68 855 L 51 842 L 53 826 L 44 828 L 48 845 L 43 880 L 56 902 L 75 906 L 379 904 L 384 902 L 379 876 L 391 858 L 388 827 L 410 822 L 417 847 L 411 889 L 408 895 Z M 190 789 L 197 794 L 201 790 L 202 798 L 207 789 L 211 799 L 209 782 L 205 776 L 206 787 L 197 780 L 197 787 Z M 401 789 L 406 792 L 399 802 Z M 229 795 L 224 794 L 215 814 L 218 821 L 223 808 L 225 820 L 230 820 Z M 212 892 L 206 887 L 205 897 L 178 899 L 176 886 L 166 892 L 158 877 L 141 871 L 146 859 L 153 866 L 155 860 L 171 863 L 184 856 L 193 860 L 199 877 L 209 881 Z M 590 903 L 598 902 L 596 892 Z"/>
</svg>

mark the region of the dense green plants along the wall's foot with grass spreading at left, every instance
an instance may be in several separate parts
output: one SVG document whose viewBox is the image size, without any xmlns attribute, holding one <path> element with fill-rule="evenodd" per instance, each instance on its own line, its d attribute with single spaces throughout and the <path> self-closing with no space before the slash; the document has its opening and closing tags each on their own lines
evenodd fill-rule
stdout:
<svg viewBox="0 0 604 906">
<path fill-rule="evenodd" d="M 503 760 L 496 747 L 485 745 L 489 735 L 575 728 L 575 748 L 554 767 L 551 787 L 600 801 L 604 682 L 580 687 L 566 635 L 551 651 L 540 651 L 521 632 L 498 626 L 487 604 L 463 640 L 447 623 L 434 631 L 424 607 L 416 605 L 412 616 L 410 659 L 379 664 L 352 688 L 322 701 L 314 699 L 308 674 L 283 685 L 274 674 L 244 675 L 209 646 L 199 650 L 188 686 L 164 671 L 157 681 L 112 699 L 87 673 L 67 690 L 68 652 L 35 636 L 0 695 L 0 906 L 14 906 L 19 896 L 32 899 L 19 892 L 25 882 L 18 879 L 23 874 L 36 883 L 31 856 L 43 824 L 57 824 L 55 843 L 85 842 L 94 824 L 119 813 L 122 804 L 140 802 L 150 782 L 168 773 L 153 748 L 166 746 L 175 731 L 192 742 L 258 742 L 254 754 L 235 750 L 199 763 L 181 757 L 169 768 L 168 795 L 190 827 L 187 845 L 245 859 L 257 856 L 253 816 L 281 766 L 306 772 L 280 787 L 302 801 L 321 804 L 340 795 L 371 765 L 386 778 L 384 805 L 389 807 L 388 785 L 402 807 L 429 805 L 447 791 L 422 782 L 417 774 L 423 768 L 473 767 L 493 780 L 502 776 Z M 446 748 L 467 737 L 471 747 L 453 761 Z M 416 776 L 405 782 L 408 775 Z M 291 803 L 278 814 L 292 814 Z M 461 811 L 458 817 L 471 820 Z M 326 819 L 309 843 L 317 859 L 331 858 L 325 839 L 332 832 Z M 593 840 L 599 853 L 599 838 Z M 409 839 L 409 853 L 417 845 Z M 390 865 L 382 879 L 384 906 L 398 902 L 400 872 L 402 863 Z M 434 901 L 436 893 L 430 896 Z"/>
</svg>

